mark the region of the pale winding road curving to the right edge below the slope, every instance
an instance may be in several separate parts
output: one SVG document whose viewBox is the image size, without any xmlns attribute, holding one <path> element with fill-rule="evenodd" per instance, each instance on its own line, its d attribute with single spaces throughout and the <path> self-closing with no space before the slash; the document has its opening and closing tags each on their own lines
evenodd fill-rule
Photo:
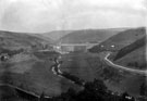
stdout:
<svg viewBox="0 0 147 101">
<path fill-rule="evenodd" d="M 147 76 L 147 71 L 140 71 L 140 70 L 135 70 L 135 68 L 130 68 L 130 67 L 126 67 L 126 66 L 122 66 L 122 65 L 118 65 L 118 64 L 114 64 L 112 61 L 110 61 L 108 58 L 111 53 L 107 53 L 107 55 L 105 56 L 105 62 L 109 65 L 109 66 L 112 66 L 112 67 L 115 67 L 115 68 L 121 68 L 123 71 L 127 71 L 127 72 L 132 72 L 132 73 L 136 73 L 136 74 L 142 74 L 142 75 L 145 75 Z"/>
</svg>

